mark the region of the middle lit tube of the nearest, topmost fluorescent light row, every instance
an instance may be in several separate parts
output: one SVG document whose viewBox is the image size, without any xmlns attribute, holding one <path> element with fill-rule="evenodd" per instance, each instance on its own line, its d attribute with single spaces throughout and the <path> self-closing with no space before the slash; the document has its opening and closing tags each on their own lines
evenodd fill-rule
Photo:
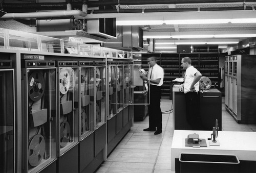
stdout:
<svg viewBox="0 0 256 173">
<path fill-rule="evenodd" d="M 184 19 L 184 20 L 164 20 L 166 24 L 216 24 L 228 23 L 230 19 Z"/>
</svg>

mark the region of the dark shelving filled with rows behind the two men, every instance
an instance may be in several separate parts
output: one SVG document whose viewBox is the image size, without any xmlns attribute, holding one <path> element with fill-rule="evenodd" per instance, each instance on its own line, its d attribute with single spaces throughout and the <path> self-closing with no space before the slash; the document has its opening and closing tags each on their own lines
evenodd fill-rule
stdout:
<svg viewBox="0 0 256 173">
<path fill-rule="evenodd" d="M 202 76 L 211 80 L 212 88 L 219 79 L 219 53 L 203 52 L 203 53 L 148 53 L 141 54 L 141 64 L 147 64 L 147 58 L 150 56 L 157 57 L 157 63 L 164 69 L 164 80 L 162 95 L 170 93 L 170 84 L 176 78 L 183 78 L 185 69 L 181 67 L 181 59 L 189 57 L 192 65 L 197 68 Z M 145 69 L 147 70 L 147 69 Z"/>
</svg>

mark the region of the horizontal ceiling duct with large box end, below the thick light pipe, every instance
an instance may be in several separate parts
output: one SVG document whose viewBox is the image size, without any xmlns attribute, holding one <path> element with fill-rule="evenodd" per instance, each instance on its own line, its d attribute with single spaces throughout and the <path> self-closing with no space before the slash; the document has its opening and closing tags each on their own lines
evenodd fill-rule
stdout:
<svg viewBox="0 0 256 173">
<path fill-rule="evenodd" d="M 100 21 L 103 21 L 103 23 Z M 109 38 L 116 38 L 114 37 L 116 36 L 115 28 L 113 29 L 113 26 L 116 27 L 116 25 L 113 24 L 112 28 L 110 28 L 106 23 L 110 24 L 111 22 L 105 21 L 93 19 L 87 23 L 85 19 L 72 18 L 37 20 L 37 34 L 65 40 L 69 40 L 69 37 L 81 38 L 84 43 L 105 42 Z M 112 35 L 108 35 L 111 33 Z"/>
</svg>

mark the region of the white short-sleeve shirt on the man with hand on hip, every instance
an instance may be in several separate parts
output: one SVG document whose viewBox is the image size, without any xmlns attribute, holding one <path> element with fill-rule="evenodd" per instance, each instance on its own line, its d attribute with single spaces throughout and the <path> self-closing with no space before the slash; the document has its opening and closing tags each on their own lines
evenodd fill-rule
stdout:
<svg viewBox="0 0 256 173">
<path fill-rule="evenodd" d="M 194 66 L 190 66 L 186 69 L 186 75 L 185 75 L 185 82 L 184 82 L 184 93 L 189 92 L 190 86 L 192 82 L 195 79 L 195 75 L 198 72 L 198 70 Z M 195 85 L 196 92 L 199 91 L 199 82 L 197 82 Z"/>
</svg>

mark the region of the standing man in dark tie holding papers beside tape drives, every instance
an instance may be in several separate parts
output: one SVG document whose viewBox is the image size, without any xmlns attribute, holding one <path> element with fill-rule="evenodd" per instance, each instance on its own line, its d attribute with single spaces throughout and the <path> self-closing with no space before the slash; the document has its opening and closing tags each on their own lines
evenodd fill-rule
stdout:
<svg viewBox="0 0 256 173">
<path fill-rule="evenodd" d="M 147 76 L 140 76 L 143 80 L 150 82 L 150 105 L 148 106 L 148 113 L 150 116 L 150 125 L 143 131 L 155 131 L 155 135 L 162 133 L 162 111 L 160 108 L 161 100 L 161 86 L 163 85 L 164 71 L 156 63 L 156 57 L 147 58 L 150 64 L 150 70 Z"/>
</svg>

